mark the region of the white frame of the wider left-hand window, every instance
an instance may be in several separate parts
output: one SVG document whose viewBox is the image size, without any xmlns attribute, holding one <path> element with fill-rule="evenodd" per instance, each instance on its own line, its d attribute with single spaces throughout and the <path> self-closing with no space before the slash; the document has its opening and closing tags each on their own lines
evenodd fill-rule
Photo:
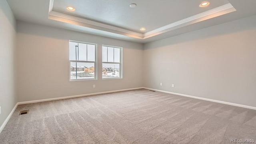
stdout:
<svg viewBox="0 0 256 144">
<path fill-rule="evenodd" d="M 81 80 L 97 80 L 97 44 L 94 44 L 94 43 L 89 43 L 89 42 L 80 42 L 80 41 L 75 41 L 75 40 L 69 40 L 69 42 L 76 42 L 76 43 L 80 43 L 80 44 L 90 44 L 90 45 L 94 45 L 95 46 L 95 61 L 83 61 L 83 60 L 70 60 L 69 57 L 70 57 L 70 48 L 68 47 L 68 59 L 69 59 L 69 81 L 81 81 Z M 69 44 L 68 42 L 68 44 Z M 79 47 L 78 47 L 79 48 Z M 88 54 L 86 52 L 86 54 Z M 87 56 L 86 56 L 87 58 Z M 87 62 L 87 63 L 94 63 L 94 78 L 84 78 L 84 79 L 77 79 L 77 74 L 76 74 L 76 79 L 71 79 L 71 72 L 70 72 L 70 68 L 71 68 L 71 62 Z M 76 66 L 76 69 L 77 69 L 77 66 Z"/>
</svg>

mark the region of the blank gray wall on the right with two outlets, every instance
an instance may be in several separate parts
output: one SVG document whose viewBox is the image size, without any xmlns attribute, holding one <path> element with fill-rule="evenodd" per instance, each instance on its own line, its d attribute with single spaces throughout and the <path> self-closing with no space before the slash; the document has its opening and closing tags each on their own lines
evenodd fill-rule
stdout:
<svg viewBox="0 0 256 144">
<path fill-rule="evenodd" d="M 256 106 L 256 16 L 147 43 L 143 69 L 147 88 Z"/>
</svg>

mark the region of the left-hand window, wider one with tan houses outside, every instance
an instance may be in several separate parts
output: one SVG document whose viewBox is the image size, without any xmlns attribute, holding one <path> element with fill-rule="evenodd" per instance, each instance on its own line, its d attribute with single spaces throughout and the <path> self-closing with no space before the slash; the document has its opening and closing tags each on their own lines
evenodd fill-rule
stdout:
<svg viewBox="0 0 256 144">
<path fill-rule="evenodd" d="M 96 44 L 69 41 L 70 80 L 96 79 Z"/>
</svg>

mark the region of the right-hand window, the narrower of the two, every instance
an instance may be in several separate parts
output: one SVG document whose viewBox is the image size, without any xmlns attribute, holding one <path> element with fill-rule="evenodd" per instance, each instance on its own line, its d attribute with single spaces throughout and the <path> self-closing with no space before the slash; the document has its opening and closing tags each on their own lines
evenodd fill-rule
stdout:
<svg viewBox="0 0 256 144">
<path fill-rule="evenodd" d="M 102 46 L 102 78 L 122 78 L 122 48 Z"/>
</svg>

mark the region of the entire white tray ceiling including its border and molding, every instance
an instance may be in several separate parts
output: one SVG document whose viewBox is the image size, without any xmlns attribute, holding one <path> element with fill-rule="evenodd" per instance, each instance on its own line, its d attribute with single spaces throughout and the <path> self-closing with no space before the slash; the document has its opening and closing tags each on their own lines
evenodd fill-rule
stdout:
<svg viewBox="0 0 256 144">
<path fill-rule="evenodd" d="M 7 0 L 17 20 L 146 43 L 256 14 L 256 0 Z M 245 3 L 246 2 L 246 3 Z M 135 8 L 129 5 L 136 3 Z M 68 11 L 74 6 L 76 11 Z M 140 31 L 145 27 L 144 32 Z"/>
</svg>

